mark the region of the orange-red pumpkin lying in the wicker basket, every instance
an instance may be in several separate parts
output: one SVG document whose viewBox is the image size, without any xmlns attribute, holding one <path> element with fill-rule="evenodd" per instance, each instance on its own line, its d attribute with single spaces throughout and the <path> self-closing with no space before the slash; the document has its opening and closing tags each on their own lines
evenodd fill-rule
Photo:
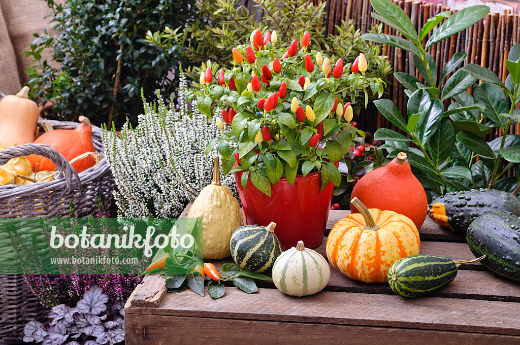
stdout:
<svg viewBox="0 0 520 345">
<path fill-rule="evenodd" d="M 86 152 L 96 152 L 94 144 L 92 143 L 92 127 L 90 121 L 85 116 L 79 117 L 81 125 L 74 129 L 55 129 L 45 132 L 38 137 L 34 143 L 44 144 L 56 149 L 67 161 L 72 161 L 77 156 Z M 33 171 L 53 171 L 56 169 L 56 164 L 51 162 L 48 158 L 32 154 L 28 156 Z M 96 160 L 88 155 L 79 161 L 72 163 L 72 167 L 77 172 L 82 172 L 96 164 Z M 37 167 L 37 169 L 36 169 Z"/>
</svg>

